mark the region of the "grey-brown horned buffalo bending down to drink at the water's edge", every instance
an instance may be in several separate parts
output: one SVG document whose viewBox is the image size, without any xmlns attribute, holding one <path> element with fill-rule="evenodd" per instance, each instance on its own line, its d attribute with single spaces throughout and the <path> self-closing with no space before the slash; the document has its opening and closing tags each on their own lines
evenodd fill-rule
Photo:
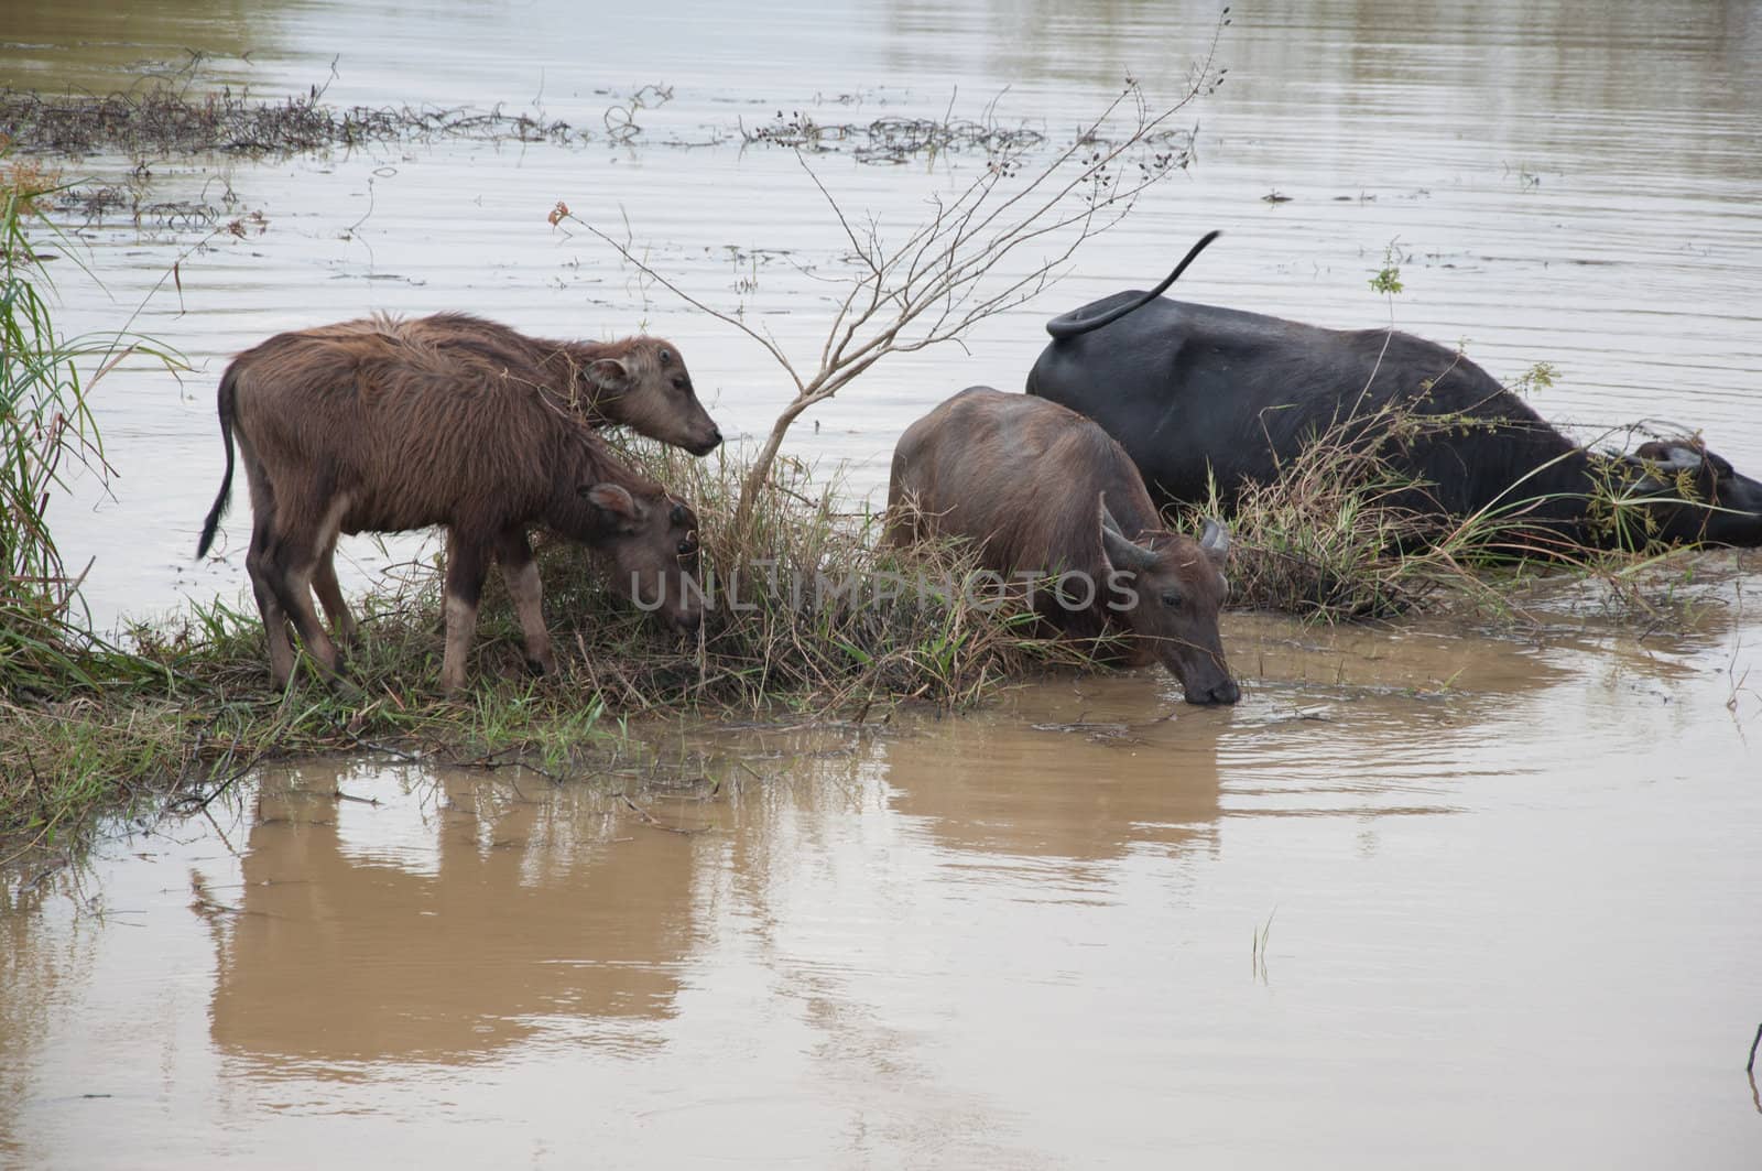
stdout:
<svg viewBox="0 0 1762 1171">
<path fill-rule="evenodd" d="M 1073 411 L 969 386 L 893 450 L 888 540 L 971 538 L 987 570 L 1057 577 L 1036 610 L 1075 638 L 1126 635 L 1129 663 L 1161 660 L 1189 704 L 1233 704 L 1218 635 L 1230 538 L 1168 533 L 1138 469 Z"/>
</svg>

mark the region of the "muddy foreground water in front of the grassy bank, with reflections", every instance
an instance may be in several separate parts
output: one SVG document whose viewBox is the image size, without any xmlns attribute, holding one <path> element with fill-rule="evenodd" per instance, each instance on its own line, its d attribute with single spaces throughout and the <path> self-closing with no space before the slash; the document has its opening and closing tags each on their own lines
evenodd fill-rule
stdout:
<svg viewBox="0 0 1762 1171">
<path fill-rule="evenodd" d="M 1477 1164 L 1669 1162 L 1667 1111 L 1739 1166 L 1755 623 L 1670 654 L 1230 626 L 1267 663 L 1230 711 L 1138 672 L 689 728 L 721 785 L 650 820 L 275 769 L 14 882 L 0 1162 L 1413 1166 L 1475 1100 Z"/>
</svg>

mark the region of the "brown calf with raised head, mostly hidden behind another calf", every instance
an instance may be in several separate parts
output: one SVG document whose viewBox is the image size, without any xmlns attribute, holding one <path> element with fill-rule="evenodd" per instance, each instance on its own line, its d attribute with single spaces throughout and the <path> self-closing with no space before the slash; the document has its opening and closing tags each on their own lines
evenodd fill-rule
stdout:
<svg viewBox="0 0 1762 1171">
<path fill-rule="evenodd" d="M 472 314 L 374 316 L 294 335 L 384 333 L 396 344 L 432 346 L 492 367 L 534 370 L 543 390 L 573 406 L 594 427 L 629 427 L 692 455 L 708 455 L 722 432 L 698 402 L 678 347 L 659 337 L 617 342 L 555 342 L 529 337 Z"/>
</svg>

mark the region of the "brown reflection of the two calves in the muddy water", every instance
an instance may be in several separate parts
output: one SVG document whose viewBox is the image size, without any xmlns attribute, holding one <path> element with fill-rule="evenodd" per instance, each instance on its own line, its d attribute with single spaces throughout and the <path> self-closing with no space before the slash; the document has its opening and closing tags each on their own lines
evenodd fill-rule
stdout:
<svg viewBox="0 0 1762 1171">
<path fill-rule="evenodd" d="M 222 1049 L 266 1072 L 289 1058 L 458 1062 L 553 1014 L 626 1044 L 641 1033 L 620 1021 L 673 1012 L 689 838 L 633 852 L 589 794 L 470 774 L 418 779 L 384 809 L 333 797 L 338 785 L 351 788 L 335 765 L 261 783 L 243 898 L 215 921 Z M 398 820 L 414 832 L 388 841 L 382 824 Z"/>
</svg>

